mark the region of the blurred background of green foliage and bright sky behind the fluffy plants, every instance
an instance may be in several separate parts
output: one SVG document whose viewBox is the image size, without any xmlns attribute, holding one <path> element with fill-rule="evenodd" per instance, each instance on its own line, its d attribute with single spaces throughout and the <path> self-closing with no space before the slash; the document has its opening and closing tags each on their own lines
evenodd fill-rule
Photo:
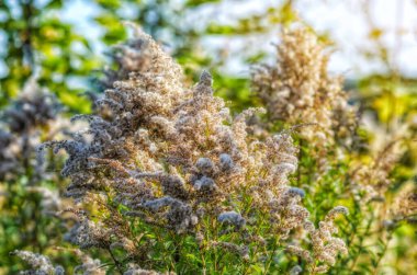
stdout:
<svg viewBox="0 0 417 275">
<path fill-rule="evenodd" d="M 16 100 L 34 89 L 34 79 L 37 89 L 49 91 L 61 102 L 59 119 L 90 113 L 89 98 L 103 92 L 99 81 L 102 69 L 114 66 L 111 46 L 128 35 L 124 21 L 137 23 L 162 44 L 183 66 L 190 83 L 202 69 L 208 69 L 216 94 L 230 101 L 235 112 L 259 104 L 250 93 L 252 66 L 272 60 L 273 45 L 280 43 L 278 34 L 294 22 L 303 22 L 333 51 L 329 72 L 343 77 L 350 102 L 362 114 L 364 139 L 380 148 L 403 135 L 405 125 L 413 133 L 417 128 L 414 0 L 1 0 L 1 124 L 14 114 L 11 108 L 24 110 Z M 41 123 L 41 134 L 25 126 L 13 135 L 26 135 L 23 145 L 34 148 L 54 136 L 50 127 Z M 34 133 L 37 139 L 27 141 Z M 7 147 L 5 140 L 0 138 L 0 149 Z M 416 185 L 416 140 L 409 139 L 401 158 L 397 190 Z M 23 170 L 0 179 L 0 274 L 14 274 L 22 266 L 10 251 L 43 253 L 60 243 L 59 236 L 65 232 L 53 215 L 42 215 L 45 192 L 33 192 L 40 185 L 58 194 L 65 180 L 49 176 L 36 185 L 35 169 L 26 160 L 34 159 L 34 153 L 21 152 L 20 157 L 26 162 Z M 10 162 L 4 156 L 1 161 Z M 58 156 L 56 163 L 59 161 Z M 58 168 L 52 165 L 47 171 Z M 55 193 L 49 194 L 52 200 Z M 386 272 L 410 274 L 413 262 L 417 262 L 417 247 L 412 245 L 415 231 L 405 227 L 399 234 L 406 237 L 388 248 L 392 253 L 384 260 L 390 262 Z M 405 260 L 402 255 L 410 250 L 414 252 Z M 58 259 L 64 265 L 75 261 L 65 253 Z"/>
</svg>

